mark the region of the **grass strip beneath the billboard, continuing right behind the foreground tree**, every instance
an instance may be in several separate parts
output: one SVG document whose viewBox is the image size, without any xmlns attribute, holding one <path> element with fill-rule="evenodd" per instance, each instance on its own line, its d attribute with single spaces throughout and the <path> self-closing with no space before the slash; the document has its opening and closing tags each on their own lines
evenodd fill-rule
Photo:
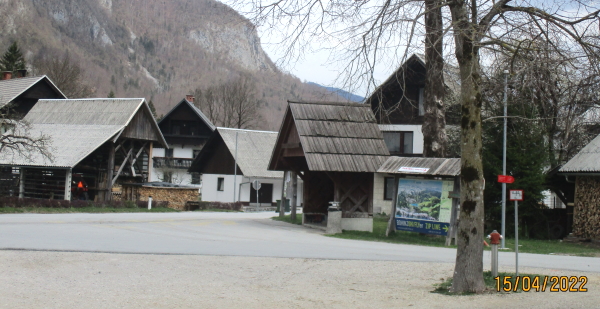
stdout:
<svg viewBox="0 0 600 309">
<path fill-rule="evenodd" d="M 381 241 L 398 244 L 445 247 L 446 237 L 421 235 L 414 232 L 396 231 L 390 233 L 389 237 L 385 236 L 387 229 L 387 216 L 373 217 L 373 233 L 359 231 L 344 231 L 341 234 L 327 235 L 330 237 Z M 449 246 L 456 248 L 456 246 Z M 514 252 L 514 239 L 506 239 L 506 247 Z M 485 250 L 490 250 L 490 247 L 484 247 Z M 597 256 L 600 257 L 600 248 L 589 246 L 587 244 L 568 243 L 560 240 L 542 240 L 542 239 L 519 239 L 520 253 L 537 253 L 537 254 L 556 254 L 556 255 L 575 255 L 575 256 Z"/>
</svg>

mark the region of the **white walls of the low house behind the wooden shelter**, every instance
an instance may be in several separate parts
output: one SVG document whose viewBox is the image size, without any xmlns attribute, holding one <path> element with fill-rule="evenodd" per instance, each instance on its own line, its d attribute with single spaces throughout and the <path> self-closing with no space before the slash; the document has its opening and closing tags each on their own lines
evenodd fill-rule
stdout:
<svg viewBox="0 0 600 309">
<path fill-rule="evenodd" d="M 217 191 L 218 178 L 224 178 L 224 190 Z M 273 184 L 273 198 L 272 203 L 281 199 L 281 178 L 248 178 L 244 176 L 237 176 L 236 178 L 236 201 L 249 202 L 250 201 L 250 187 L 251 182 L 258 179 L 261 183 L 272 183 Z M 233 186 L 234 186 L 233 175 L 220 175 L 220 174 L 203 174 L 202 175 L 202 200 L 208 202 L 233 202 Z M 241 184 L 241 186 L 240 186 Z M 239 190 L 239 192 L 238 192 Z M 303 183 L 298 178 L 298 193 L 297 193 L 297 205 L 300 206 L 303 202 Z M 239 199 L 238 199 L 239 198 Z M 289 197 L 288 197 L 289 198 Z"/>
</svg>

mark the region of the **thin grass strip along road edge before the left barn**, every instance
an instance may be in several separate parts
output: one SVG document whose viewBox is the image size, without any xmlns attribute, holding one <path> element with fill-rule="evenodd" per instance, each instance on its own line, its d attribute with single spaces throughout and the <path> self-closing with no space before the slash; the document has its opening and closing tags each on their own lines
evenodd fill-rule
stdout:
<svg viewBox="0 0 600 309">
<path fill-rule="evenodd" d="M 178 212 L 179 210 L 156 207 L 147 208 L 123 208 L 123 207 L 0 207 L 0 214 L 35 213 L 35 214 L 59 214 L 59 213 L 114 213 L 114 212 Z"/>
</svg>

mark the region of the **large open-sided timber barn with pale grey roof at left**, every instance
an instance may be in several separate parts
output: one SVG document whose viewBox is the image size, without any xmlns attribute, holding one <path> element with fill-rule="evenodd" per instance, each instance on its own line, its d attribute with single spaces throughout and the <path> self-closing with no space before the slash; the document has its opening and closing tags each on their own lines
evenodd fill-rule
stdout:
<svg viewBox="0 0 600 309">
<path fill-rule="evenodd" d="M 120 182 L 146 181 L 152 148 L 167 145 L 143 98 L 39 100 L 23 120 L 11 132 L 42 147 L 0 155 L 19 197 L 110 200 Z"/>
</svg>

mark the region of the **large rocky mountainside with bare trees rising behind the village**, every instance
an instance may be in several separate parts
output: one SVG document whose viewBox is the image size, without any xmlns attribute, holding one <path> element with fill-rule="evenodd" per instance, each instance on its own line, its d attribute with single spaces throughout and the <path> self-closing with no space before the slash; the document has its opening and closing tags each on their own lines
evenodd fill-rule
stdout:
<svg viewBox="0 0 600 309">
<path fill-rule="evenodd" d="M 254 25 L 214 0 L 2 0 L 0 52 L 17 40 L 26 60 L 66 51 L 95 96 L 145 97 L 158 114 L 196 88 L 240 74 L 262 100 L 257 129 L 278 129 L 286 100 L 331 93 L 281 72 Z M 4 47 L 4 48 L 2 48 Z"/>
</svg>

